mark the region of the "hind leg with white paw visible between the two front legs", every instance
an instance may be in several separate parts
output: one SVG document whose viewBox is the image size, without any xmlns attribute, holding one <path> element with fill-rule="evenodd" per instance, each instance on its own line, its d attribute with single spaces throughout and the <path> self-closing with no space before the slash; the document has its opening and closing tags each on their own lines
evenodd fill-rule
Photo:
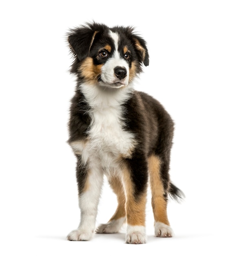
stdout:
<svg viewBox="0 0 237 256">
<path fill-rule="evenodd" d="M 109 183 L 114 193 L 117 195 L 118 206 L 109 222 L 97 227 L 96 232 L 100 234 L 117 233 L 126 221 L 125 194 L 122 182 L 118 177 L 111 177 Z"/>
</svg>

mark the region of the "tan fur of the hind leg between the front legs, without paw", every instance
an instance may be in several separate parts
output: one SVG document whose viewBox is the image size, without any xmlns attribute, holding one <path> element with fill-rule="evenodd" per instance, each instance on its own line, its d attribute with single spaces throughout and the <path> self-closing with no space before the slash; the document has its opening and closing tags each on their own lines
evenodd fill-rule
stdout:
<svg viewBox="0 0 237 256">
<path fill-rule="evenodd" d="M 111 220 L 117 220 L 119 218 L 125 217 L 125 194 L 124 194 L 124 188 L 122 185 L 121 180 L 118 177 L 111 177 L 109 180 L 109 184 L 111 188 L 113 189 L 113 192 L 117 195 L 117 202 L 118 206 L 114 213 L 114 215 L 111 217 Z"/>
</svg>

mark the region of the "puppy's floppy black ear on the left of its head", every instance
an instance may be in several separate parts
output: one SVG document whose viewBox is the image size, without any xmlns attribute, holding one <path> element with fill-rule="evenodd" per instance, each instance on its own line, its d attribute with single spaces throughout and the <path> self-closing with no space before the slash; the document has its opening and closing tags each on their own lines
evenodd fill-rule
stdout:
<svg viewBox="0 0 237 256">
<path fill-rule="evenodd" d="M 97 32 L 91 27 L 78 27 L 71 29 L 68 33 L 69 47 L 77 56 L 79 62 L 83 61 L 89 55 Z"/>
</svg>

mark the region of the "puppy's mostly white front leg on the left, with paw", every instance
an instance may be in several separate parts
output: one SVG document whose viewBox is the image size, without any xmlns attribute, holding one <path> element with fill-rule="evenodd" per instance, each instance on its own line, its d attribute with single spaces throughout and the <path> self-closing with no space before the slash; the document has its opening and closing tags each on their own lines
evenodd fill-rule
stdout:
<svg viewBox="0 0 237 256">
<path fill-rule="evenodd" d="M 95 232 L 95 219 L 103 184 L 103 173 L 96 165 L 84 164 L 80 155 L 77 165 L 77 181 L 81 220 L 78 229 L 67 236 L 71 241 L 88 241 Z"/>
</svg>

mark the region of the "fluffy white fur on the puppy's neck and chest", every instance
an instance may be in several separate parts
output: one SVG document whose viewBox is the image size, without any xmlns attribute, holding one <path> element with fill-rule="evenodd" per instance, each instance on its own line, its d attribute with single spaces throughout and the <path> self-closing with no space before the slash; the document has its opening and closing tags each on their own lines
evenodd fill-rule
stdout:
<svg viewBox="0 0 237 256">
<path fill-rule="evenodd" d="M 74 151 L 82 154 L 82 160 L 97 162 L 104 169 L 111 169 L 115 159 L 128 157 L 135 146 L 134 135 L 124 130 L 124 109 L 122 103 L 131 97 L 131 88 L 123 88 L 115 94 L 105 94 L 91 85 L 82 85 L 81 90 L 91 107 L 91 124 L 86 143 L 75 141 Z"/>
</svg>

